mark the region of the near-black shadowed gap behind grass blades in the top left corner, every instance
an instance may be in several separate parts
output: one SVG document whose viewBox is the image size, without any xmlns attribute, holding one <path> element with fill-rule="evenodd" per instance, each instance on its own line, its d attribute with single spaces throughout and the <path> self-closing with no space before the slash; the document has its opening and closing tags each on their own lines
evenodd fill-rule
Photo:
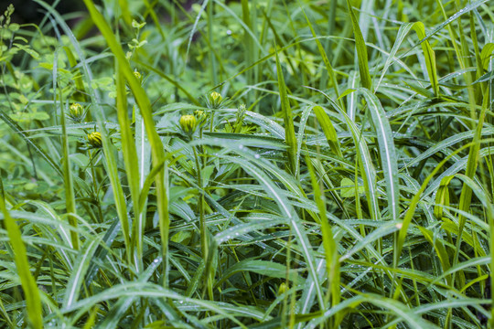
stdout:
<svg viewBox="0 0 494 329">
<path fill-rule="evenodd" d="M 55 0 L 46 0 L 45 2 L 48 5 L 53 5 Z M 14 15 L 12 16 L 12 22 L 18 24 L 34 23 L 38 25 L 46 13 L 46 9 L 44 9 L 41 5 L 38 5 L 38 3 L 33 0 L 7 0 L 2 2 L 0 12 L 3 14 L 6 7 L 10 4 L 14 5 L 14 8 L 16 9 Z M 56 9 L 61 15 L 63 15 L 85 10 L 86 6 L 82 0 L 61 0 L 56 6 Z"/>
</svg>

